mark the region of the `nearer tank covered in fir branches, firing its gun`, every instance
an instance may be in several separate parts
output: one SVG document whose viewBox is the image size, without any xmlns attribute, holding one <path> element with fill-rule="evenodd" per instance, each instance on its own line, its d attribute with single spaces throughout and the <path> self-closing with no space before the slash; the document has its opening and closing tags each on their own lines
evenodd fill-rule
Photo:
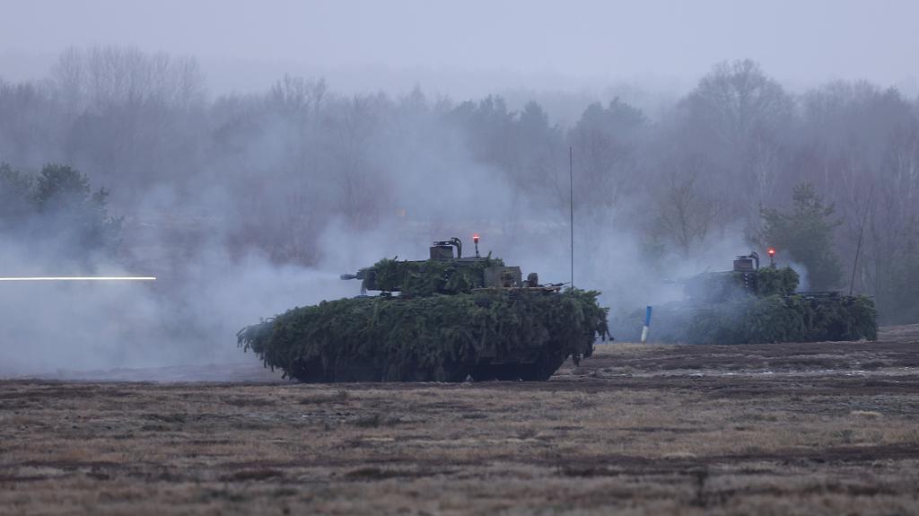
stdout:
<svg viewBox="0 0 919 516">
<path fill-rule="evenodd" d="M 547 380 L 607 336 L 599 292 L 540 285 L 498 258 L 436 241 L 419 261 L 356 275 L 359 297 L 293 308 L 237 334 L 244 350 L 302 382 Z M 368 292 L 378 292 L 373 296 Z"/>
</svg>

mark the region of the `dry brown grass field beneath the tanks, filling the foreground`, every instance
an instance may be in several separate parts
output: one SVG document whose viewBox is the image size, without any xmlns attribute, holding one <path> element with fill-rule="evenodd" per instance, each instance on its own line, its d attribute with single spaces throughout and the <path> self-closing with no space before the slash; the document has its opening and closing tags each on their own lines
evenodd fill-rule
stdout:
<svg viewBox="0 0 919 516">
<path fill-rule="evenodd" d="M 913 326 L 610 344 L 543 383 L 6 380 L 0 512 L 919 513 L 917 352 Z"/>
</svg>

